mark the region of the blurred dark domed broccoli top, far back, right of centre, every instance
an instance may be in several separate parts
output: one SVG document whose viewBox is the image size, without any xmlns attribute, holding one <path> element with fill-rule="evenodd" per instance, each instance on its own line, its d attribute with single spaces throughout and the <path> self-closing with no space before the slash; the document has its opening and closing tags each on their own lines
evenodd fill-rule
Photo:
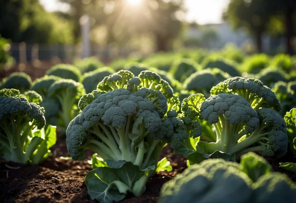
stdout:
<svg viewBox="0 0 296 203">
<path fill-rule="evenodd" d="M 232 77 L 241 75 L 240 72 L 235 68 L 235 64 L 226 59 L 209 57 L 203 61 L 202 67 L 203 69 L 218 68 L 223 72 L 227 72 Z"/>
</svg>

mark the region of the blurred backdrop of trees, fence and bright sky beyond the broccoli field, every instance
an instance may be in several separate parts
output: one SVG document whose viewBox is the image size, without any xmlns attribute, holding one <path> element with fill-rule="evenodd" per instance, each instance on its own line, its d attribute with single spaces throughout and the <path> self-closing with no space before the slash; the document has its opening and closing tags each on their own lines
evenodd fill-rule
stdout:
<svg viewBox="0 0 296 203">
<path fill-rule="evenodd" d="M 293 55 L 295 0 L 1 0 L 0 66 L 184 49 Z"/>
</svg>

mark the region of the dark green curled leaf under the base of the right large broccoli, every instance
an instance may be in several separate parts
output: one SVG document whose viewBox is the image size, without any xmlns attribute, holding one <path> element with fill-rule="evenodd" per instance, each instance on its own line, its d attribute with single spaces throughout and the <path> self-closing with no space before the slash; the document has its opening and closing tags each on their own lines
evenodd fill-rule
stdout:
<svg viewBox="0 0 296 203">
<path fill-rule="evenodd" d="M 231 156 L 227 153 L 221 152 L 221 151 L 215 151 L 212 154 L 203 154 L 201 152 L 193 152 L 189 154 L 187 157 L 187 166 L 200 163 L 203 160 L 209 159 L 209 158 L 221 158 L 226 161 L 229 161 L 231 159 Z"/>
</svg>

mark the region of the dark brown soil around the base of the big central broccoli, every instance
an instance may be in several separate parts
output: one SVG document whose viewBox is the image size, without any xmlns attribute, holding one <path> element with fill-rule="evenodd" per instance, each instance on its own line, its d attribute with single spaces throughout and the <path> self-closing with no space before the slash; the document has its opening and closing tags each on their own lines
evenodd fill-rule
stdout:
<svg viewBox="0 0 296 203">
<path fill-rule="evenodd" d="M 3 202 L 96 202 L 90 199 L 84 185 L 84 177 L 91 170 L 87 159 L 72 161 L 59 158 L 69 156 L 62 138 L 51 150 L 53 155 L 38 166 L 0 162 L 0 199 Z M 86 154 L 89 159 L 91 152 Z M 122 202 L 157 201 L 163 183 L 186 168 L 185 157 L 173 154 L 168 146 L 163 149 L 161 158 L 164 156 L 171 162 L 173 170 L 151 177 L 143 196 L 128 194 Z"/>
</svg>

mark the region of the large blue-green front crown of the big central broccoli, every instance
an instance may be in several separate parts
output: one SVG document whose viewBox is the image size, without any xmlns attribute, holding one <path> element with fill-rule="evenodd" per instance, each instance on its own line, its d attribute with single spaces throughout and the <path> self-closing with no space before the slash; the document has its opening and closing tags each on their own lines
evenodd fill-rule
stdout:
<svg viewBox="0 0 296 203">
<path fill-rule="evenodd" d="M 142 95 L 142 90 L 139 90 Z M 83 152 L 79 149 L 90 128 L 97 122 L 103 125 L 122 129 L 128 117 L 139 118 L 145 131 L 152 134 L 152 138 L 160 139 L 157 132 L 162 120 L 151 101 L 139 96 L 137 92 L 131 94 L 125 88 L 116 89 L 99 95 L 91 104 L 84 107 L 81 114 L 76 116 L 67 128 L 67 148 L 75 159 L 82 158 Z"/>
</svg>

